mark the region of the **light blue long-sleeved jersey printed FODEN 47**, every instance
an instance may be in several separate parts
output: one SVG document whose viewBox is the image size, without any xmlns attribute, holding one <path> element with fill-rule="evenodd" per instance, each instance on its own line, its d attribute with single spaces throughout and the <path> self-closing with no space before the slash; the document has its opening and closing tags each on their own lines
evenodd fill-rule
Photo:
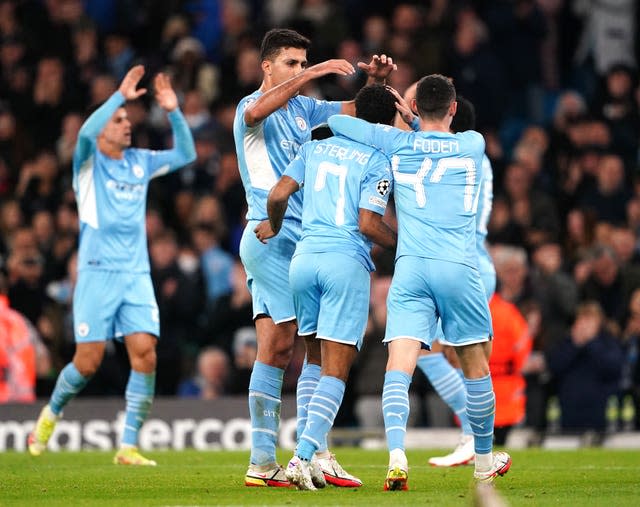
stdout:
<svg viewBox="0 0 640 507">
<path fill-rule="evenodd" d="M 484 138 L 469 130 L 407 132 L 336 115 L 337 133 L 380 148 L 391 157 L 403 255 L 477 266 L 476 211 Z"/>
</svg>

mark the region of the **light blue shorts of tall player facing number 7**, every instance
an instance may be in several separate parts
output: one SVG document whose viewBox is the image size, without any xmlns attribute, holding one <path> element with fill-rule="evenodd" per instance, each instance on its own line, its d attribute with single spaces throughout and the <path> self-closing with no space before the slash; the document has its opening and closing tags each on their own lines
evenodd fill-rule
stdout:
<svg viewBox="0 0 640 507">
<path fill-rule="evenodd" d="M 300 239 L 300 222 L 285 219 L 280 232 L 266 244 L 261 243 L 253 232 L 259 223 L 249 221 L 240 240 L 240 259 L 247 272 L 253 318 L 267 315 L 276 324 L 295 320 L 289 266 Z"/>
</svg>

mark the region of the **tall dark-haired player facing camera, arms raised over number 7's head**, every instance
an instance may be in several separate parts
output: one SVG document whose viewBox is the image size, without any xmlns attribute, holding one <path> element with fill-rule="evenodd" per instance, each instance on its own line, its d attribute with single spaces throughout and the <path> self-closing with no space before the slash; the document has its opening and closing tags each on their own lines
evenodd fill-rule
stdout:
<svg viewBox="0 0 640 507">
<path fill-rule="evenodd" d="M 276 463 L 276 441 L 282 379 L 296 335 L 289 264 L 300 238 L 302 196 L 296 194 L 290 199 L 282 229 L 275 238 L 263 244 L 255 232 L 268 232 L 269 190 L 300 146 L 311 139 L 311 130 L 326 123 L 332 114 L 355 113 L 353 101 L 327 102 L 298 95 L 309 81 L 328 74 L 355 72 L 346 60 L 327 60 L 307 68 L 309 46 L 309 39 L 293 30 L 267 32 L 261 47 L 262 85 L 240 101 L 233 127 L 248 204 L 240 257 L 247 272 L 258 338 L 257 359 L 249 384 L 252 440 L 245 475 L 247 486 L 289 486 L 284 470 Z M 385 55 L 374 55 L 369 64 L 360 62 L 358 67 L 369 75 L 369 81 L 382 81 L 394 64 Z M 307 358 L 298 380 L 298 434 L 304 428 L 311 393 L 320 380 L 320 348 L 314 341 L 306 343 Z M 316 458 L 330 483 L 354 487 L 362 484 L 342 469 L 326 444 L 318 450 Z"/>
</svg>

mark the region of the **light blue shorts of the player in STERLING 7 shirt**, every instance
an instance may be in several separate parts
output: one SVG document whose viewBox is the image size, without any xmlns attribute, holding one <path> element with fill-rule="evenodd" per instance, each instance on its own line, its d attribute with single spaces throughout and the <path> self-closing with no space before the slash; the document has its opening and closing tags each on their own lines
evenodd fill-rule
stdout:
<svg viewBox="0 0 640 507">
<path fill-rule="evenodd" d="M 289 271 L 298 334 L 358 350 L 367 327 L 371 277 L 357 259 L 338 252 L 296 254 Z"/>
</svg>

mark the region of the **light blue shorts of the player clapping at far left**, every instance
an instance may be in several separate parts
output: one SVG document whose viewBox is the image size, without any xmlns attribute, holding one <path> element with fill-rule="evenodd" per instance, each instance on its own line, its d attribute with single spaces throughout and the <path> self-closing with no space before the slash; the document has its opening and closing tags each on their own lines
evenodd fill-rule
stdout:
<svg viewBox="0 0 640 507">
<path fill-rule="evenodd" d="M 131 333 L 160 337 L 160 315 L 149 273 L 80 271 L 73 293 L 76 343 L 122 339 Z"/>
</svg>

